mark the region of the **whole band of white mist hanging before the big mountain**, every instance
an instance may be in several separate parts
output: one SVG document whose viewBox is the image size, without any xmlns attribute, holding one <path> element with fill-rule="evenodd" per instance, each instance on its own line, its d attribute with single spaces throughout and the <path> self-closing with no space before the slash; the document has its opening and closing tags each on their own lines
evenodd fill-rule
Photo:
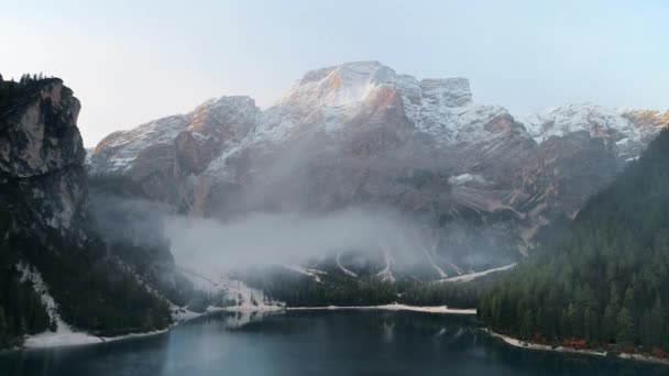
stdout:
<svg viewBox="0 0 669 376">
<path fill-rule="evenodd" d="M 178 266 L 208 275 L 275 264 L 312 265 L 349 252 L 375 261 L 380 269 L 392 263 L 395 270 L 418 267 L 439 277 L 445 270 L 452 276 L 462 273 L 460 268 L 514 262 L 507 254 L 485 252 L 490 234 L 470 239 L 465 228 L 436 229 L 382 206 L 318 213 L 284 209 L 221 220 L 179 215 L 165 204 L 113 195 L 92 195 L 91 201 L 103 239 L 168 251 Z"/>
</svg>

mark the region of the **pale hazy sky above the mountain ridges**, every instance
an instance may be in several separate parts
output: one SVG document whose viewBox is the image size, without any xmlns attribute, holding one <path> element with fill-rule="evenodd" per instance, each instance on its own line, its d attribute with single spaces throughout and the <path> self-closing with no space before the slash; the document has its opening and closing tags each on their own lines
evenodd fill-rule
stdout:
<svg viewBox="0 0 669 376">
<path fill-rule="evenodd" d="M 513 114 L 669 107 L 669 1 L 0 0 L 0 73 L 62 77 L 94 146 L 223 95 L 271 104 L 308 69 L 463 76 Z"/>
</svg>

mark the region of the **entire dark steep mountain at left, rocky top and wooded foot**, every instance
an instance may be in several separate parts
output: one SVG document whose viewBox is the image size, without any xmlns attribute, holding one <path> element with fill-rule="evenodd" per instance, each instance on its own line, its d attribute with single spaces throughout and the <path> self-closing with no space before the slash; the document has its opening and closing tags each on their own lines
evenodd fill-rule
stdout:
<svg viewBox="0 0 669 376">
<path fill-rule="evenodd" d="M 91 224 L 79 109 L 58 78 L 0 79 L 0 347 L 172 322 Z"/>
</svg>

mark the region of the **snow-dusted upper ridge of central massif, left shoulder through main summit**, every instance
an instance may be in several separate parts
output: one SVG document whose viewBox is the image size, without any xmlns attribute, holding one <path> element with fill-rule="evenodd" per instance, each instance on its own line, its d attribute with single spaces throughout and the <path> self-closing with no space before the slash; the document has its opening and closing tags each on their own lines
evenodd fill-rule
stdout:
<svg viewBox="0 0 669 376">
<path fill-rule="evenodd" d="M 473 104 L 465 78 L 417 80 L 379 62 L 355 62 L 305 74 L 262 112 L 248 97 L 222 97 L 188 114 L 114 132 L 98 144 L 89 167 L 92 175 L 129 175 L 141 181 L 154 179 L 156 170 L 172 175 L 174 161 L 186 159 L 187 168 L 177 168 L 182 178 L 204 172 L 211 181 L 224 183 L 235 178 L 234 162 L 250 150 L 267 150 L 304 136 L 342 140 L 370 124 L 388 123 L 388 117 L 398 124 L 406 122 L 396 125 L 398 131 L 406 126 L 443 146 L 496 137 L 511 119 L 500 106 Z M 517 131 L 525 132 L 522 126 Z"/>
</svg>

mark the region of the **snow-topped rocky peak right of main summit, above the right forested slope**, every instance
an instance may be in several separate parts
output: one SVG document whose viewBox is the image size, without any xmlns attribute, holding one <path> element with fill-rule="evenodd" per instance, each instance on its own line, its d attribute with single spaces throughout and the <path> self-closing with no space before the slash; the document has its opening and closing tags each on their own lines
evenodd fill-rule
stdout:
<svg viewBox="0 0 669 376">
<path fill-rule="evenodd" d="M 528 214 L 526 240 L 548 224 L 573 219 L 652 139 L 615 111 L 590 103 L 547 109 L 523 123 L 537 142 L 520 188 L 529 196 L 517 203 Z"/>
</svg>

